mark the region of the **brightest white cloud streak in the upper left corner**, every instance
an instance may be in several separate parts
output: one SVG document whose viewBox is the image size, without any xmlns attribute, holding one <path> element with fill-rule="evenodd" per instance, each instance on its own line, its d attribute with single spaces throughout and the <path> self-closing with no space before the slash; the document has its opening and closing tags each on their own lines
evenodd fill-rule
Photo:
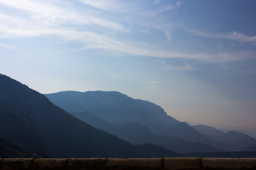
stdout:
<svg viewBox="0 0 256 170">
<path fill-rule="evenodd" d="M 56 6 L 55 4 L 50 4 L 46 2 L 40 1 L 0 1 L 0 4 L 4 4 L 11 8 L 16 8 L 19 11 L 18 15 L 9 15 L 9 16 L 1 16 L 1 19 L 4 19 L 5 23 L 9 23 L 9 26 L 17 26 L 15 20 L 22 20 L 22 23 L 33 23 L 34 26 L 81 26 L 82 24 L 91 25 L 95 24 L 97 26 L 102 26 L 105 28 L 110 28 L 113 30 L 119 31 L 127 31 L 127 28 L 122 26 L 122 24 L 117 23 L 115 21 L 108 20 L 107 18 L 92 16 L 90 13 L 86 11 L 78 11 L 78 9 L 74 10 L 72 8 L 68 8 L 68 6 Z M 23 13 L 23 16 L 20 16 Z M 8 18 L 6 18 L 8 17 Z M 21 17 L 23 17 L 21 19 Z M 7 21 L 6 19 L 10 19 L 11 21 Z M 22 24 L 21 26 L 26 26 L 26 24 Z M 30 24 L 31 26 L 31 24 Z"/>
</svg>

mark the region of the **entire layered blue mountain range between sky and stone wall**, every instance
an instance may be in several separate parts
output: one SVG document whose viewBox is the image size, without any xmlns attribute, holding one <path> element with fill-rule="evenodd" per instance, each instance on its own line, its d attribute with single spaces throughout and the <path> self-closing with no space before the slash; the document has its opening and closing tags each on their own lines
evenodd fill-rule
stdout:
<svg viewBox="0 0 256 170">
<path fill-rule="evenodd" d="M 256 140 L 191 127 L 116 91 L 44 96 L 0 74 L 0 149 L 1 157 L 193 157 L 188 153 L 255 151 Z"/>
</svg>

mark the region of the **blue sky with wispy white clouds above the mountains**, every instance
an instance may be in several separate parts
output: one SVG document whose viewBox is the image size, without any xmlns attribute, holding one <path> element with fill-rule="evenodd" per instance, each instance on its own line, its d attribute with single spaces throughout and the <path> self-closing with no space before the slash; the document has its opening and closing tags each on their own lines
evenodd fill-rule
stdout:
<svg viewBox="0 0 256 170">
<path fill-rule="evenodd" d="M 255 0 L 1 0 L 0 73 L 256 128 Z"/>
</svg>

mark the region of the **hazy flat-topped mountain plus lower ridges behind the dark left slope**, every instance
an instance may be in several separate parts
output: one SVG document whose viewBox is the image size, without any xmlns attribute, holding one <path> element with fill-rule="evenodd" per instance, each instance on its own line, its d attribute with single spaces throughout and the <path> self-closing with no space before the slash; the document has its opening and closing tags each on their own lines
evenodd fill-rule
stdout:
<svg viewBox="0 0 256 170">
<path fill-rule="evenodd" d="M 154 103 L 117 91 L 62 91 L 46 96 L 75 117 L 134 144 L 149 142 L 179 153 L 193 152 L 193 149 L 197 152 L 255 150 L 253 140 L 250 145 L 248 142 L 242 146 L 210 137 L 200 128 L 167 115 Z"/>
</svg>

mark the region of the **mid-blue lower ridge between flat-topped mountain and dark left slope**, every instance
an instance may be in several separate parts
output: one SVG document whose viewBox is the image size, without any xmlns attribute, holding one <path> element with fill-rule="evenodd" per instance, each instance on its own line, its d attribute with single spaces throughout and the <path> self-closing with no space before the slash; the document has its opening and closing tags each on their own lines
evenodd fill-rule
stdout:
<svg viewBox="0 0 256 170">
<path fill-rule="evenodd" d="M 209 147 L 208 145 L 203 145 L 198 142 L 188 142 L 171 136 L 154 135 L 146 125 L 142 125 L 140 123 L 107 123 L 107 121 L 102 120 L 90 111 L 70 114 L 94 126 L 95 128 L 110 132 L 111 134 L 120 137 L 122 140 L 127 140 L 135 145 L 151 143 L 171 149 L 178 153 L 221 151 L 220 149 L 214 149 L 213 147 Z"/>
</svg>

